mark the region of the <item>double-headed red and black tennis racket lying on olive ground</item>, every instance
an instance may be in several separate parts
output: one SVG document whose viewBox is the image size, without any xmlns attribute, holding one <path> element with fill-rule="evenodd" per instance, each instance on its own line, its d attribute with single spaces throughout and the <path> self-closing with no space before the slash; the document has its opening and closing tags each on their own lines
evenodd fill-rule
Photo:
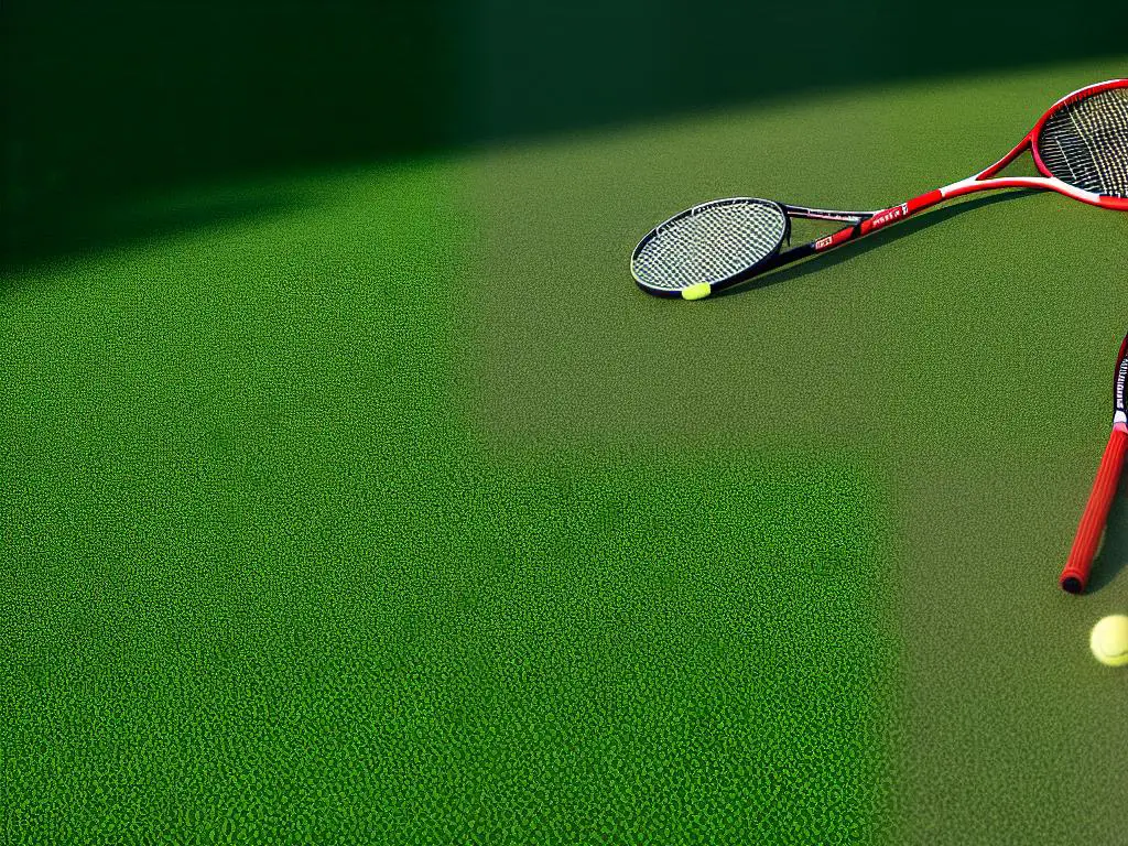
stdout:
<svg viewBox="0 0 1128 846">
<path fill-rule="evenodd" d="M 997 176 L 1026 150 L 1041 176 Z M 631 256 L 631 274 L 647 293 L 699 300 L 840 247 L 945 200 L 995 188 L 1056 191 L 1102 209 L 1128 211 L 1128 79 L 1098 82 L 1063 97 L 986 170 L 889 209 L 831 211 L 755 197 L 695 205 L 638 243 Z M 790 243 L 793 218 L 845 226 L 781 252 L 784 241 Z"/>
</svg>

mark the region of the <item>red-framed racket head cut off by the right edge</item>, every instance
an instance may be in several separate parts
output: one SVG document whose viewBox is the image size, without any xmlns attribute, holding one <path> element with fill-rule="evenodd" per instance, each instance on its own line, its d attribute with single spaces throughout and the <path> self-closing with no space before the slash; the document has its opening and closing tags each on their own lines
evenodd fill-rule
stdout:
<svg viewBox="0 0 1128 846">
<path fill-rule="evenodd" d="M 1059 99 L 1031 131 L 1030 150 L 1038 170 L 1078 199 L 1128 210 L 1128 79 Z"/>
</svg>

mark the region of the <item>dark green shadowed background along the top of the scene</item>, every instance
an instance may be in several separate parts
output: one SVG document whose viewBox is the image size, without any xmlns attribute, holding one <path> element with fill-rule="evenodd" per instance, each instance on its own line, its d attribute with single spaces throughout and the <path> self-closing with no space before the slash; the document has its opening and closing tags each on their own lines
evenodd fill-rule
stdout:
<svg viewBox="0 0 1128 846">
<path fill-rule="evenodd" d="M 1128 5 L 1089 6 L 15 0 L 3 248 L 67 249 L 105 203 L 192 180 L 1122 53 Z"/>
</svg>

